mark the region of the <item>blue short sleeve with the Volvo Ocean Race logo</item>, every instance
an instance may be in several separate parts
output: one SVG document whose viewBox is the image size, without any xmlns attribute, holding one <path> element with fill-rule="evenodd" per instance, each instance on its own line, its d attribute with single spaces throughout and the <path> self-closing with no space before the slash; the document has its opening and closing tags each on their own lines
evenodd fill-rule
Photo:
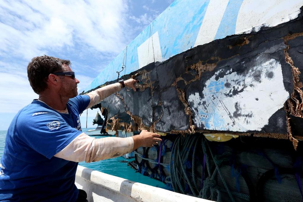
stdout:
<svg viewBox="0 0 303 202">
<path fill-rule="evenodd" d="M 48 159 L 82 133 L 69 126 L 56 112 L 19 116 L 16 126 L 16 140 L 25 143 Z"/>
</svg>

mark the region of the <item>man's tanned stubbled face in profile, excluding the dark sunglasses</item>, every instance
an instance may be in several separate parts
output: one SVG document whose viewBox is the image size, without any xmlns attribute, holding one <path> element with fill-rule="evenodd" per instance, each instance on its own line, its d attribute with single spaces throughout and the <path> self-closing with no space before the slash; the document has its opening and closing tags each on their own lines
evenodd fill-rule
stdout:
<svg viewBox="0 0 303 202">
<path fill-rule="evenodd" d="M 72 69 L 67 66 L 63 65 L 64 72 L 71 72 Z M 63 97 L 72 98 L 78 95 L 78 88 L 77 84 L 80 83 L 78 79 L 73 79 L 70 76 L 61 76 L 62 86 L 60 89 L 60 94 Z"/>
</svg>

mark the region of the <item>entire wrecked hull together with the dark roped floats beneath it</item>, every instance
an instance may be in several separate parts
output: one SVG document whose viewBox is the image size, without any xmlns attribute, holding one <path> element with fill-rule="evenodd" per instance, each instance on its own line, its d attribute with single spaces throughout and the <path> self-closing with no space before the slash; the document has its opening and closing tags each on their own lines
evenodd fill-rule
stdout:
<svg viewBox="0 0 303 202">
<path fill-rule="evenodd" d="M 162 135 L 131 166 L 210 200 L 303 199 L 302 5 L 175 1 L 138 35 L 87 88 L 123 65 L 122 79 L 140 80 L 101 101 L 107 129 Z"/>
</svg>

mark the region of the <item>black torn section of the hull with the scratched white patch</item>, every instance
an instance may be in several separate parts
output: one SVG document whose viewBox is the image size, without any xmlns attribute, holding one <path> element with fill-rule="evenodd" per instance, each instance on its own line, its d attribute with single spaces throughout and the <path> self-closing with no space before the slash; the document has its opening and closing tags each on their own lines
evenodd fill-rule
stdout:
<svg viewBox="0 0 303 202">
<path fill-rule="evenodd" d="M 216 40 L 125 75 L 143 84 L 138 84 L 138 92 L 122 89 L 101 102 L 109 111 L 108 127 L 301 139 L 298 75 L 303 65 L 296 59 L 295 66 L 292 58 L 301 54 L 293 49 L 303 46 L 290 44 L 301 39 L 302 32 L 299 17 Z"/>
</svg>

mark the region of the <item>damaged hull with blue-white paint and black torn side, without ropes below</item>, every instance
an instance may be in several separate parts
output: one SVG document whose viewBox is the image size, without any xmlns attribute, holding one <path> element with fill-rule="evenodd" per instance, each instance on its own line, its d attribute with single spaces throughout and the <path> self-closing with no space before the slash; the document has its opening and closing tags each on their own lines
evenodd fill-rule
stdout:
<svg viewBox="0 0 303 202">
<path fill-rule="evenodd" d="M 303 139 L 303 1 L 263 4 L 173 2 L 86 89 L 117 82 L 119 66 L 122 79 L 141 81 L 137 92 L 122 89 L 101 102 L 107 128 L 253 134 L 296 147 Z"/>
</svg>

